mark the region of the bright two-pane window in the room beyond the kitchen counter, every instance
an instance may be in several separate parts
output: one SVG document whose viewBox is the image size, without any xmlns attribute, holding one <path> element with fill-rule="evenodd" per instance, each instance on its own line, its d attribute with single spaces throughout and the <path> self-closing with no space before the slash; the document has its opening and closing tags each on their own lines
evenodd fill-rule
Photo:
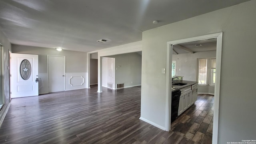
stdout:
<svg viewBox="0 0 256 144">
<path fill-rule="evenodd" d="M 216 58 L 200 58 L 198 63 L 198 84 L 214 85 L 216 79 Z"/>
</svg>

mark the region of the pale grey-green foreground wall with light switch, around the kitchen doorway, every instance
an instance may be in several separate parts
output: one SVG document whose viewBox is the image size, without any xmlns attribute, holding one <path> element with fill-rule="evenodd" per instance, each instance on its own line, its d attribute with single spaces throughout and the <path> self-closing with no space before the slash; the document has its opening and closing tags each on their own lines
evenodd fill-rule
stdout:
<svg viewBox="0 0 256 144">
<path fill-rule="evenodd" d="M 223 32 L 218 143 L 255 139 L 255 7 L 252 0 L 143 32 L 141 117 L 165 127 L 166 42 Z"/>
</svg>

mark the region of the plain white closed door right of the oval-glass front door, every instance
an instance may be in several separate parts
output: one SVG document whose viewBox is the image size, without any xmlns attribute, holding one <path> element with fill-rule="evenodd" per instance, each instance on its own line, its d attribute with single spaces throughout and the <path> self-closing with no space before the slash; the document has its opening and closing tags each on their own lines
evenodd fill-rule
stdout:
<svg viewBox="0 0 256 144">
<path fill-rule="evenodd" d="M 65 90 L 65 56 L 48 56 L 49 92 Z"/>
</svg>

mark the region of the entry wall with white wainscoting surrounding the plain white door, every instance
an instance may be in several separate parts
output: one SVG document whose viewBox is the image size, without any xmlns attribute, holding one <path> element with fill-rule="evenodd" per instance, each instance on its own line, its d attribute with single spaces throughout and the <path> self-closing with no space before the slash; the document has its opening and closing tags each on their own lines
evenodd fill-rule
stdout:
<svg viewBox="0 0 256 144">
<path fill-rule="evenodd" d="M 54 48 L 21 46 L 12 44 L 12 52 L 38 55 L 39 94 L 49 92 L 47 74 L 47 55 L 66 56 L 65 90 L 87 88 L 87 53 L 70 50 L 57 51 Z"/>
</svg>

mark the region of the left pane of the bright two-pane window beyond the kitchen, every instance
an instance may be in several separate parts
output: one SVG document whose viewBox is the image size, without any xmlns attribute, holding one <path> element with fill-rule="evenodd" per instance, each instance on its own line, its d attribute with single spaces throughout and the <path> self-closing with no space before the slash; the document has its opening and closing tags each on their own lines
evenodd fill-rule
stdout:
<svg viewBox="0 0 256 144">
<path fill-rule="evenodd" d="M 207 82 L 207 59 L 199 59 L 198 84 Z"/>
</svg>

